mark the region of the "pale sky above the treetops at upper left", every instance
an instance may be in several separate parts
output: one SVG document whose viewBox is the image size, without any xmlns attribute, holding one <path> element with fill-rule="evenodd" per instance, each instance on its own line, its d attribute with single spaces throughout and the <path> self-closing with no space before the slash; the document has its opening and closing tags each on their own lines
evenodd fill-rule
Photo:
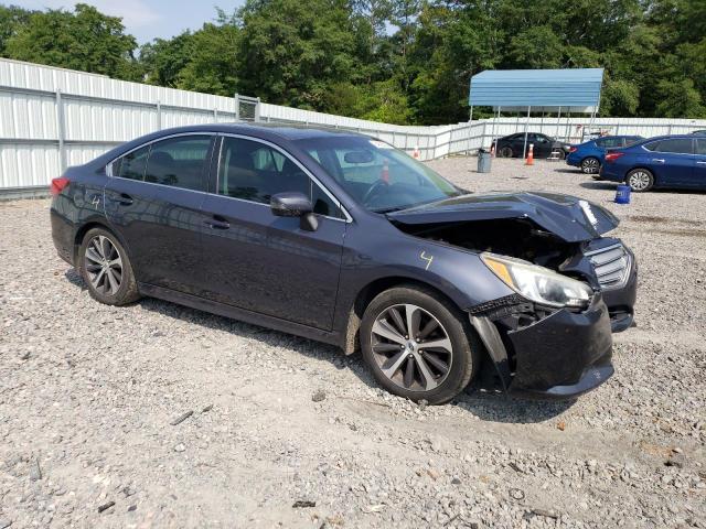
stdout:
<svg viewBox="0 0 706 529">
<path fill-rule="evenodd" d="M 183 30 L 197 30 L 204 22 L 213 21 L 215 7 L 226 13 L 240 7 L 243 0 L 0 0 L 0 3 L 25 9 L 67 9 L 75 3 L 88 3 L 111 17 L 121 17 L 126 32 L 140 44 L 156 37 L 169 39 Z"/>
</svg>

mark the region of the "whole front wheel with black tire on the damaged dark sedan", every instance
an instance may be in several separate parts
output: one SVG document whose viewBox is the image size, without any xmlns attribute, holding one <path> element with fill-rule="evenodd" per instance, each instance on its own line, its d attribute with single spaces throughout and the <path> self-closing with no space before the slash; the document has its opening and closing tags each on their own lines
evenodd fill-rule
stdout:
<svg viewBox="0 0 706 529">
<path fill-rule="evenodd" d="M 379 385 L 415 402 L 450 401 L 480 366 L 481 345 L 463 313 L 415 285 L 378 294 L 365 310 L 360 336 Z"/>
</svg>

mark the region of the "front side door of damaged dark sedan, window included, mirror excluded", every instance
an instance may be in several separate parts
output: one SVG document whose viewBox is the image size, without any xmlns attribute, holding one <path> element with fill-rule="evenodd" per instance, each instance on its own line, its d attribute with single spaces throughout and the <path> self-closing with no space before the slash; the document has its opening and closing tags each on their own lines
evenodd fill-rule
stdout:
<svg viewBox="0 0 706 529">
<path fill-rule="evenodd" d="M 346 220 L 338 202 L 293 158 L 271 143 L 223 136 L 215 185 L 203 210 L 204 273 L 211 300 L 330 330 Z M 319 226 L 275 216 L 270 197 L 301 192 Z"/>
</svg>

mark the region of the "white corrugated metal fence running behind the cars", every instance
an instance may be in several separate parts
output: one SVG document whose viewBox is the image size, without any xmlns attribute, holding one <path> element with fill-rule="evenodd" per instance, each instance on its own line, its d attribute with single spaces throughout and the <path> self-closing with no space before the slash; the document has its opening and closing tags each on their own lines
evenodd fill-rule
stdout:
<svg viewBox="0 0 706 529">
<path fill-rule="evenodd" d="M 526 119 L 503 117 L 436 127 L 406 127 L 223 97 L 0 58 L 0 196 L 44 193 L 67 165 L 149 132 L 184 125 L 265 121 L 374 136 L 422 160 L 489 147 L 493 137 L 524 131 Z M 580 141 L 586 118 L 532 118 L 528 130 Z M 644 137 L 706 129 L 706 120 L 596 119 L 591 130 Z"/>
</svg>

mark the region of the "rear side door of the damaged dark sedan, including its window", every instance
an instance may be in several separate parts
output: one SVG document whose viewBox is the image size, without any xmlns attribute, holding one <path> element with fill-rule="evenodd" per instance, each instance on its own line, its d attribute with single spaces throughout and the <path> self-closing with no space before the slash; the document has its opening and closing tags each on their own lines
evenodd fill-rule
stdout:
<svg viewBox="0 0 706 529">
<path fill-rule="evenodd" d="M 128 246 L 139 282 L 201 290 L 201 206 L 213 134 L 182 134 L 133 150 L 109 165 L 109 223 Z"/>
</svg>

